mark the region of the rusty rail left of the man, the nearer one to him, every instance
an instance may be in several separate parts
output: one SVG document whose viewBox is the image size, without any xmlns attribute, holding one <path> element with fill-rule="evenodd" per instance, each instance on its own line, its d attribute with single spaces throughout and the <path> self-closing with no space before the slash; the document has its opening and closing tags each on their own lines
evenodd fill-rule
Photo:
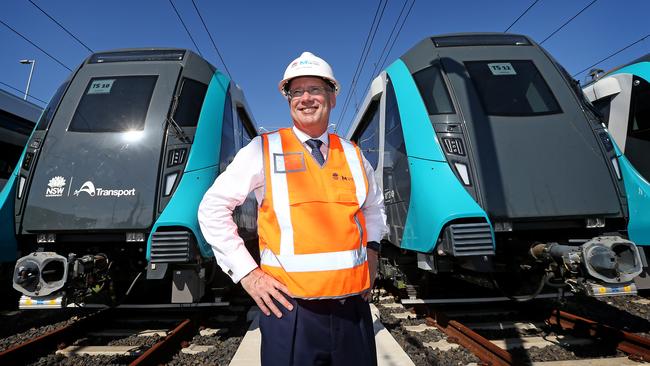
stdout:
<svg viewBox="0 0 650 366">
<path fill-rule="evenodd" d="M 170 334 L 154 344 L 145 353 L 131 362 L 130 366 L 158 365 L 169 361 L 171 353 L 182 348 L 182 343 L 191 339 L 198 330 L 196 321 L 183 320 Z"/>
</svg>

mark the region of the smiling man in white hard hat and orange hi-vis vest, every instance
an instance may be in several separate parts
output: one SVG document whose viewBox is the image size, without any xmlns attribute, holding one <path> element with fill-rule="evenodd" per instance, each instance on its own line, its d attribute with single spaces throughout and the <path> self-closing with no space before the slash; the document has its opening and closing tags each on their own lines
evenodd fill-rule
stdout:
<svg viewBox="0 0 650 366">
<path fill-rule="evenodd" d="M 201 230 L 265 315 L 263 365 L 376 365 L 367 301 L 386 232 L 383 196 L 359 149 L 327 133 L 339 90 L 327 62 L 304 52 L 279 88 L 293 127 L 237 153 L 201 202 Z M 232 220 L 251 191 L 259 267 Z"/>
</svg>

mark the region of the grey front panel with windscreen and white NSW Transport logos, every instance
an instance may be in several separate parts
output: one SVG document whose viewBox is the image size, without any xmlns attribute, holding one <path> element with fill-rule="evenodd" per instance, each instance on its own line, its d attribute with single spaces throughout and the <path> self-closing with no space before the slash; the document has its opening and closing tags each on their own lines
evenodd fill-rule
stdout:
<svg viewBox="0 0 650 366">
<path fill-rule="evenodd" d="M 71 80 L 31 174 L 23 232 L 147 229 L 178 62 L 89 62 Z"/>
</svg>

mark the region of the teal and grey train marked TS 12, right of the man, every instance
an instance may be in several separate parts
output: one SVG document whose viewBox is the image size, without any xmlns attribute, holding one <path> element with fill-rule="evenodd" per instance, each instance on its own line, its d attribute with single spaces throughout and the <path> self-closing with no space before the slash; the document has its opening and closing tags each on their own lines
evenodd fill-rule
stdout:
<svg viewBox="0 0 650 366">
<path fill-rule="evenodd" d="M 650 185 L 534 40 L 423 39 L 370 84 L 346 137 L 375 168 L 380 274 L 410 297 L 457 276 L 530 300 L 637 293 Z"/>
</svg>

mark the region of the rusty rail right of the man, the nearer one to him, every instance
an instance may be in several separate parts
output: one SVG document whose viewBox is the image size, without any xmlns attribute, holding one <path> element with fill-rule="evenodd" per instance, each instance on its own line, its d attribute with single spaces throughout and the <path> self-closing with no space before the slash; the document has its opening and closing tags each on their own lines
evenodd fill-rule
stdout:
<svg viewBox="0 0 650 366">
<path fill-rule="evenodd" d="M 516 361 L 508 351 L 500 348 L 463 324 L 455 320 L 449 320 L 444 314 L 434 313 L 433 317 L 426 318 L 426 322 L 428 325 L 435 326 L 445 333 L 448 342 L 458 343 L 467 348 L 488 365 L 506 366 L 516 364 Z"/>
</svg>

